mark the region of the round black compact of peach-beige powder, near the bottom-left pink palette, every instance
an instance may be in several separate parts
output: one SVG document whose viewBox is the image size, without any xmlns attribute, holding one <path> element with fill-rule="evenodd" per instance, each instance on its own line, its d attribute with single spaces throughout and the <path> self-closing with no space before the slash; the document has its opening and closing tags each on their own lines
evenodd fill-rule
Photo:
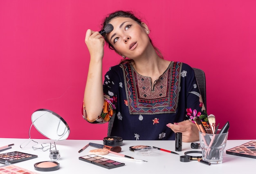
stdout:
<svg viewBox="0 0 256 174">
<path fill-rule="evenodd" d="M 54 170 L 58 170 L 60 168 L 60 164 L 56 161 L 42 161 L 34 164 L 35 170 L 42 172 L 50 172 Z"/>
</svg>

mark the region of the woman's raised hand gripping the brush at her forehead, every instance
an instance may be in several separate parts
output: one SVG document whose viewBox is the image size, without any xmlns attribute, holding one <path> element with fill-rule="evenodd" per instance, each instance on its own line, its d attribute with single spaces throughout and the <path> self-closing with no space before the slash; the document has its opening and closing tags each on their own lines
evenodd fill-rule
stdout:
<svg viewBox="0 0 256 174">
<path fill-rule="evenodd" d="M 85 44 L 89 50 L 91 59 L 101 59 L 104 55 L 104 43 L 103 36 L 98 31 L 92 31 L 88 29 L 85 34 Z"/>
</svg>

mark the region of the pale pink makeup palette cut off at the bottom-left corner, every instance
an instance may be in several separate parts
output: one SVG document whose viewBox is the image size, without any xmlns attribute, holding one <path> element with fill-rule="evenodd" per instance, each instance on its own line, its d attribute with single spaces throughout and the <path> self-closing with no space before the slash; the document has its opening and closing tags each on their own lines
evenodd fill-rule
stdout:
<svg viewBox="0 0 256 174">
<path fill-rule="evenodd" d="M 38 174 L 36 172 L 31 172 L 27 169 L 15 165 L 7 165 L 0 167 L 0 174 Z"/>
</svg>

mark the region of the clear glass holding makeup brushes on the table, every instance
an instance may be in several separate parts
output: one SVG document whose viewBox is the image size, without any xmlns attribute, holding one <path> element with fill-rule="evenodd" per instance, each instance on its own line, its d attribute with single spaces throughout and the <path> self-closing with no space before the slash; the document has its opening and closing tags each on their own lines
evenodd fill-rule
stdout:
<svg viewBox="0 0 256 174">
<path fill-rule="evenodd" d="M 229 122 L 222 129 L 218 129 L 218 126 L 215 127 L 215 116 L 209 115 L 208 120 L 211 129 L 199 131 L 202 159 L 211 164 L 219 164 L 222 163 L 224 149 L 227 144 Z"/>
</svg>

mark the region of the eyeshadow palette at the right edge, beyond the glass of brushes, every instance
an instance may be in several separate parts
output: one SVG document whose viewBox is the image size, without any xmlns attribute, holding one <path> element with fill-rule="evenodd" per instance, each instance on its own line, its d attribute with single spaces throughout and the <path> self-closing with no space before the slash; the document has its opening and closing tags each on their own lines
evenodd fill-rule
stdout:
<svg viewBox="0 0 256 174">
<path fill-rule="evenodd" d="M 227 154 L 256 158 L 256 141 L 250 141 L 232 149 L 226 150 Z"/>
</svg>

